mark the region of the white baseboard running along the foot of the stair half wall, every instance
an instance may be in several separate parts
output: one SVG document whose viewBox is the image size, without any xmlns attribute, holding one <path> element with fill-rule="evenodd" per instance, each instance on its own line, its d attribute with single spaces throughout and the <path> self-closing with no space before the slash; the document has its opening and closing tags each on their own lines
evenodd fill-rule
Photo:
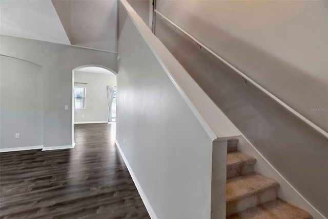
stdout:
<svg viewBox="0 0 328 219">
<path fill-rule="evenodd" d="M 125 155 L 124 155 L 124 153 L 123 153 L 123 151 L 122 151 L 121 147 L 119 146 L 119 144 L 118 144 L 118 142 L 117 142 L 116 139 L 115 139 L 115 144 L 116 144 L 116 146 L 117 146 L 117 148 L 119 150 L 120 155 L 122 156 L 122 158 L 124 160 L 125 165 L 128 167 L 128 170 L 129 170 L 129 173 L 131 175 L 131 178 L 132 178 L 135 186 L 137 187 L 137 190 L 138 190 L 138 192 L 140 194 L 141 200 L 142 200 L 142 202 L 144 202 L 144 205 L 145 205 L 145 207 L 146 207 L 146 209 L 148 211 L 149 216 L 152 219 L 157 219 L 158 217 L 156 216 L 154 209 L 152 208 L 150 202 L 148 201 L 147 196 L 146 196 L 144 190 L 142 190 L 141 185 L 139 184 L 139 181 L 137 180 L 137 178 L 136 178 L 136 176 L 135 176 L 135 174 L 134 174 L 134 172 L 133 172 L 133 170 L 132 170 L 132 168 L 131 168 L 128 160 L 127 160 L 127 158 L 125 157 Z"/>
</svg>

